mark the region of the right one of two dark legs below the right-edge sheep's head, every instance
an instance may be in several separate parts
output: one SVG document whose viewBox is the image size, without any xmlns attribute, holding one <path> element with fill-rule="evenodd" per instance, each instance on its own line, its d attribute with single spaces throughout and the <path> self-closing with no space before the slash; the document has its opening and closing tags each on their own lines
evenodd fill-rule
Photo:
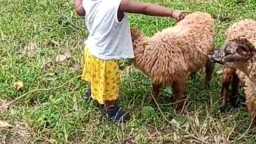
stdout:
<svg viewBox="0 0 256 144">
<path fill-rule="evenodd" d="M 231 96 L 229 98 L 232 106 L 236 107 L 236 101 L 238 99 L 237 93 L 238 93 L 238 83 L 239 83 L 239 79 L 236 73 L 233 74 L 232 76 L 232 82 L 231 82 L 231 86 L 232 86 L 232 91 L 231 91 Z"/>
</svg>

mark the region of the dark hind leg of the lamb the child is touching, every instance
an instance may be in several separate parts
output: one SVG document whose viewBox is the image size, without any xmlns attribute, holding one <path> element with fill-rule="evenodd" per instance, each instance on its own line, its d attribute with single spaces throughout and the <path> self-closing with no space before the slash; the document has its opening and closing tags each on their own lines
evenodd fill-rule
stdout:
<svg viewBox="0 0 256 144">
<path fill-rule="evenodd" d="M 209 88 L 210 87 L 210 80 L 212 79 L 212 73 L 215 67 L 215 63 L 211 60 L 207 60 L 205 64 L 205 78 L 204 84 Z"/>
</svg>

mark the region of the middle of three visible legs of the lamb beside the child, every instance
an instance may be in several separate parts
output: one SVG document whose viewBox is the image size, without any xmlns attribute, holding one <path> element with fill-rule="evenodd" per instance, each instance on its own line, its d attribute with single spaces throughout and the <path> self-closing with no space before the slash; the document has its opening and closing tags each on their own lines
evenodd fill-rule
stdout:
<svg viewBox="0 0 256 144">
<path fill-rule="evenodd" d="M 174 93 L 175 102 L 177 102 L 177 105 L 176 105 L 177 111 L 182 110 L 185 104 L 186 96 L 183 95 L 185 84 L 186 84 L 186 79 L 175 81 L 172 84 L 172 90 Z"/>
</svg>

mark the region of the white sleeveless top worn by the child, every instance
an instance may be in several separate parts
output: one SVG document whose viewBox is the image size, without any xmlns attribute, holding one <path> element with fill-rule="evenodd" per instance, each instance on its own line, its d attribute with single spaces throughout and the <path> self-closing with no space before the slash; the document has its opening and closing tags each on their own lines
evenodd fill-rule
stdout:
<svg viewBox="0 0 256 144">
<path fill-rule="evenodd" d="M 89 31 L 86 46 L 103 60 L 134 58 L 128 14 L 121 22 L 117 14 L 121 0 L 83 0 Z"/>
</svg>

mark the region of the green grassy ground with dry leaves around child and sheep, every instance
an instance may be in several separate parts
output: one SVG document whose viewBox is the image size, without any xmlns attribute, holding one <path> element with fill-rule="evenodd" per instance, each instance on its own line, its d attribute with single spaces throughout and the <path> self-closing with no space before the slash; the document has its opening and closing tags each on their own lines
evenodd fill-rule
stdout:
<svg viewBox="0 0 256 144">
<path fill-rule="evenodd" d="M 246 132 L 249 119 L 244 107 L 220 113 L 219 68 L 209 90 L 202 86 L 203 72 L 188 81 L 188 106 L 182 115 L 172 108 L 170 90 L 162 92 L 159 108 L 152 105 L 153 114 L 142 115 L 141 109 L 149 106 L 144 100 L 150 79 L 133 67 L 125 68 L 119 103 L 132 118 L 117 125 L 102 117 L 96 104 L 81 100 L 86 90 L 79 78 L 86 30 L 73 1 L 0 0 L 1 144 L 256 144 L 255 130 Z M 229 24 L 256 18 L 255 0 L 148 1 L 215 15 L 216 46 Z M 131 15 L 130 23 L 147 35 L 174 24 L 168 18 L 138 15 Z M 23 87 L 16 83 L 16 88 L 22 87 L 16 90 L 13 85 L 19 81 Z M 178 128 L 170 124 L 174 116 L 186 123 Z"/>
</svg>

